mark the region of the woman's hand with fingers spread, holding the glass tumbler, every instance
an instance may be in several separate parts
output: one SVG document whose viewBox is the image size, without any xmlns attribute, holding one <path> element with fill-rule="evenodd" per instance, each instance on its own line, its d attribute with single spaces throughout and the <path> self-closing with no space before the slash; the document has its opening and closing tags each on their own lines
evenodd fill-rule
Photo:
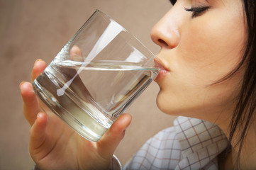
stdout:
<svg viewBox="0 0 256 170">
<path fill-rule="evenodd" d="M 35 62 L 32 81 L 45 67 L 43 60 Z M 89 142 L 57 115 L 42 112 L 29 82 L 21 83 L 20 87 L 23 113 L 32 126 L 29 151 L 39 169 L 108 169 L 113 152 L 130 124 L 130 115 L 121 115 L 98 142 Z"/>
</svg>

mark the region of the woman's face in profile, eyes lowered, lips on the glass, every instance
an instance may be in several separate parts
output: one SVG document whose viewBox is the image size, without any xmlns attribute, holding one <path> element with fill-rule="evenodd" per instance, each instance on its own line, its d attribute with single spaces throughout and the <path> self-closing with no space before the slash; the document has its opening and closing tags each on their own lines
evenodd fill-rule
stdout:
<svg viewBox="0 0 256 170">
<path fill-rule="evenodd" d="M 245 26 L 241 0 L 178 0 L 151 33 L 165 67 L 156 79 L 157 106 L 168 114 L 211 121 L 216 113 L 231 113 L 243 68 L 213 83 L 240 62 Z"/>
</svg>

